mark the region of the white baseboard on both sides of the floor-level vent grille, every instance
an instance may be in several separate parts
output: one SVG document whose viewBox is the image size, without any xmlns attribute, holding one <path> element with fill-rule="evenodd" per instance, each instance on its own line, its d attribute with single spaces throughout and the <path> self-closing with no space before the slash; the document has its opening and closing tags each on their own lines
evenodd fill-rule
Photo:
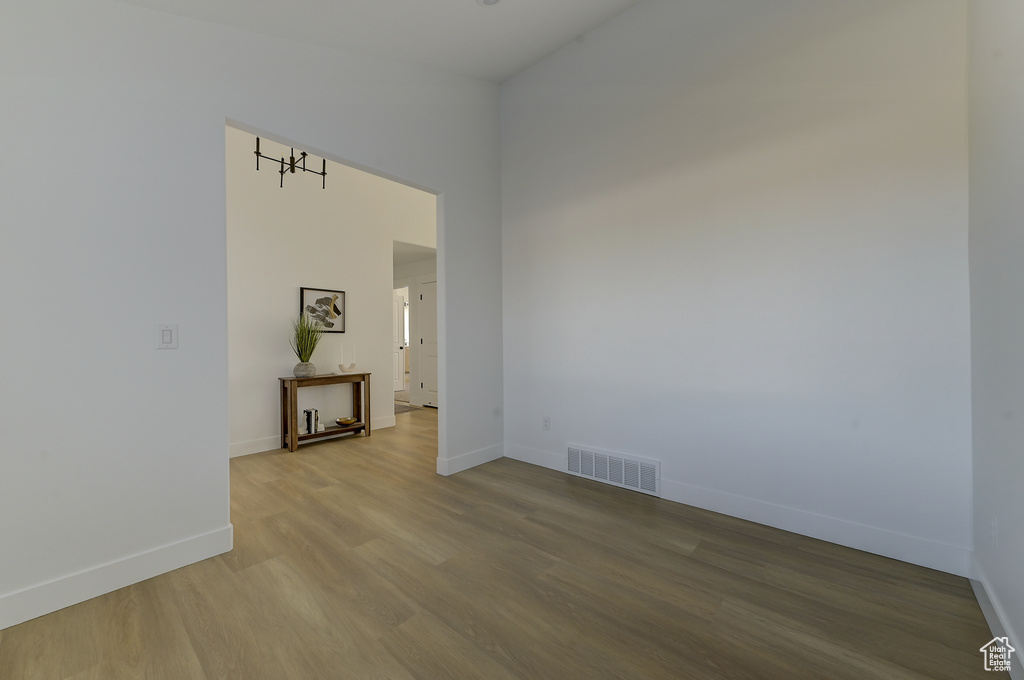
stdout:
<svg viewBox="0 0 1024 680">
<path fill-rule="evenodd" d="M 505 456 L 562 472 L 565 472 L 568 466 L 564 455 L 518 444 L 507 445 Z M 959 577 L 968 577 L 971 573 L 970 548 L 857 524 L 845 519 L 685 484 L 664 477 L 662 498 Z"/>
</svg>

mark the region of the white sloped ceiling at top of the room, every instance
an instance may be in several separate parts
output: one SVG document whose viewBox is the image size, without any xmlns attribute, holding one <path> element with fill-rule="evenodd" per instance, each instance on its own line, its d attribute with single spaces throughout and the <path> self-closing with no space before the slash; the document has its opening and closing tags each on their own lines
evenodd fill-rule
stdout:
<svg viewBox="0 0 1024 680">
<path fill-rule="evenodd" d="M 122 0 L 500 83 L 640 0 Z"/>
</svg>

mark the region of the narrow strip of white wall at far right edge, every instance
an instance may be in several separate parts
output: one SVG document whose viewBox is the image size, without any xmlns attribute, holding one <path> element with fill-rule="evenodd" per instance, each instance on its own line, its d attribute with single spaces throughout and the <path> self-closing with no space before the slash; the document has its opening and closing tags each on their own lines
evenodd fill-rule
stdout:
<svg viewBox="0 0 1024 680">
<path fill-rule="evenodd" d="M 1024 642 L 1024 5 L 971 3 L 974 578 L 992 630 Z M 995 537 L 990 529 L 993 519 Z M 993 543 L 993 538 L 995 539 Z M 1024 678 L 1019 657 L 1014 668 Z"/>
</svg>

